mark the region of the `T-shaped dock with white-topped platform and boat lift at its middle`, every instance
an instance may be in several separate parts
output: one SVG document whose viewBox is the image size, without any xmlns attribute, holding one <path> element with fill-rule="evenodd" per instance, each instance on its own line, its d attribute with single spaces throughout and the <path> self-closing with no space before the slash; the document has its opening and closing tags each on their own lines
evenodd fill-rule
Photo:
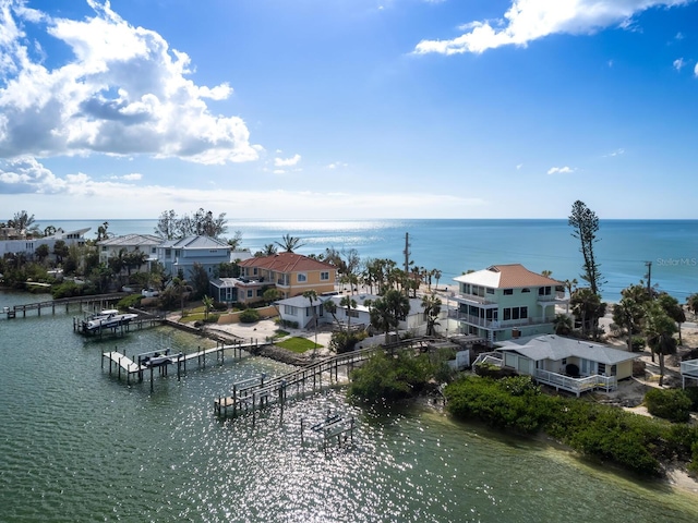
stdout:
<svg viewBox="0 0 698 523">
<path fill-rule="evenodd" d="M 157 370 L 159 376 L 168 376 L 169 367 L 177 367 L 177 379 L 181 379 L 181 375 L 186 373 L 186 364 L 195 362 L 198 368 L 206 368 L 206 356 L 212 354 L 216 355 L 216 364 L 222 365 L 225 362 L 226 351 L 232 352 L 233 360 L 241 360 L 243 351 L 250 352 L 252 349 L 267 344 L 268 342 L 257 342 L 256 340 L 250 340 L 250 342 L 240 342 L 231 344 L 216 344 L 210 349 L 203 349 L 196 352 L 184 354 L 182 352 L 173 354 L 170 349 L 161 351 L 149 351 L 141 354 L 136 354 L 132 357 L 127 356 L 124 353 L 118 351 L 105 352 L 101 354 L 101 368 L 105 368 L 105 361 L 109 362 L 109 374 L 112 372 L 118 374 L 119 379 L 124 375 L 127 384 L 134 381 L 143 381 L 144 375 L 149 373 L 151 375 L 151 392 L 154 389 L 154 376 Z"/>
</svg>

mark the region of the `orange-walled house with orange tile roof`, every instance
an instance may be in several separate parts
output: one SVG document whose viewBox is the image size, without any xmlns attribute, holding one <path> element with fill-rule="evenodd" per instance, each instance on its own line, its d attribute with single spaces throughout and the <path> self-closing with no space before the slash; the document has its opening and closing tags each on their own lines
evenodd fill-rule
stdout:
<svg viewBox="0 0 698 523">
<path fill-rule="evenodd" d="M 321 295 L 334 292 L 337 281 L 334 265 L 296 253 L 253 257 L 240 262 L 238 266 L 238 278 L 212 281 L 217 301 L 257 302 L 269 288 L 276 288 L 280 299 L 298 296 L 311 290 Z"/>
</svg>

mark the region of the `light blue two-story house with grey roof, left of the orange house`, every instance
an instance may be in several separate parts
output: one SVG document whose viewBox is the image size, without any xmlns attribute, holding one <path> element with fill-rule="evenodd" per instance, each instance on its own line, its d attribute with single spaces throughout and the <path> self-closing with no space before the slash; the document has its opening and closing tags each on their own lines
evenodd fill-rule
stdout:
<svg viewBox="0 0 698 523">
<path fill-rule="evenodd" d="M 200 264 L 212 278 L 217 266 L 230 263 L 230 245 L 217 238 L 204 235 L 165 240 L 157 245 L 157 260 L 172 276 L 182 270 L 184 278 L 189 278 L 194 264 Z"/>
</svg>

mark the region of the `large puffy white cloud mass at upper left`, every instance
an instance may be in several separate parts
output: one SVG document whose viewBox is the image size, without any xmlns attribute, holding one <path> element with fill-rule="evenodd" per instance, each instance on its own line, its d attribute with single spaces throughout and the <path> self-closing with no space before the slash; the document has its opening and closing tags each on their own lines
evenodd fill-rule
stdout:
<svg viewBox="0 0 698 523">
<path fill-rule="evenodd" d="M 151 155 L 200 163 L 250 161 L 258 147 L 239 117 L 214 115 L 206 100 L 232 94 L 196 85 L 190 58 L 156 32 L 134 27 L 108 0 L 95 15 L 51 17 L 0 0 L 0 158 L 23 155 Z M 25 26 L 32 32 L 25 32 Z M 70 59 L 44 65 L 29 34 L 63 42 Z"/>
</svg>

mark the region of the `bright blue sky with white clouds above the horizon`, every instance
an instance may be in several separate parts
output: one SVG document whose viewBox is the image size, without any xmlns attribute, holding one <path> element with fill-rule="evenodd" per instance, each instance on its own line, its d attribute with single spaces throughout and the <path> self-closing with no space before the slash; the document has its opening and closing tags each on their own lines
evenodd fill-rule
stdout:
<svg viewBox="0 0 698 523">
<path fill-rule="evenodd" d="M 698 0 L 0 0 L 0 221 L 696 219 Z"/>
</svg>

